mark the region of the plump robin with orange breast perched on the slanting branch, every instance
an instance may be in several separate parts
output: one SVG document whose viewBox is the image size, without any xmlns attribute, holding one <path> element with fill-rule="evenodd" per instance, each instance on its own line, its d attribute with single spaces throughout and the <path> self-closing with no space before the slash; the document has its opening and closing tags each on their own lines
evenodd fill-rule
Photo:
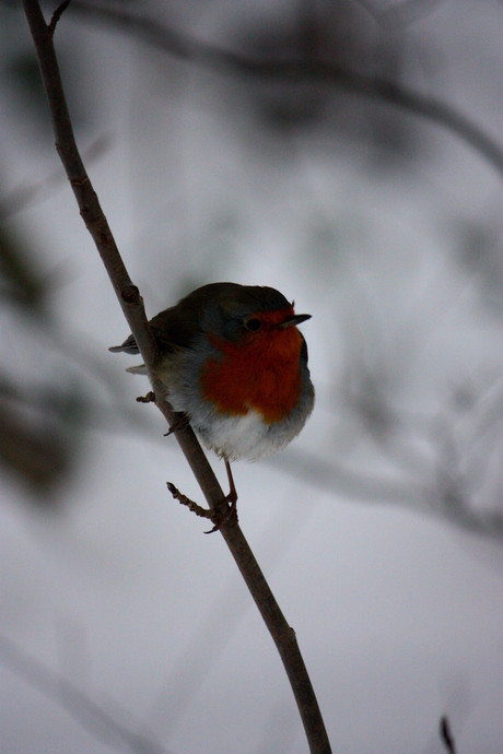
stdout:
<svg viewBox="0 0 503 754">
<path fill-rule="evenodd" d="M 271 287 L 210 283 L 150 320 L 155 377 L 202 443 L 230 462 L 284 448 L 313 411 L 307 345 L 293 303 Z M 134 338 L 109 349 L 138 354 Z M 145 374 L 144 365 L 128 369 Z"/>
</svg>

